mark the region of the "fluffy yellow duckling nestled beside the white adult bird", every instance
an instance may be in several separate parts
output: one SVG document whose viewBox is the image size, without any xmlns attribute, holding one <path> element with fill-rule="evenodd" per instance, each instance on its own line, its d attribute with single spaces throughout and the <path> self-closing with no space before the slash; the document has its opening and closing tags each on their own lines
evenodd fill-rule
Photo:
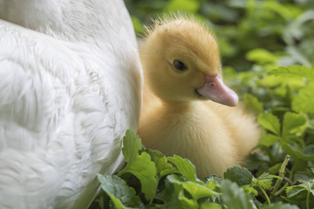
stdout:
<svg viewBox="0 0 314 209">
<path fill-rule="evenodd" d="M 260 128 L 223 83 L 214 34 L 192 17 L 168 17 L 147 28 L 140 58 L 144 146 L 188 158 L 199 178 L 243 166 Z"/>
</svg>

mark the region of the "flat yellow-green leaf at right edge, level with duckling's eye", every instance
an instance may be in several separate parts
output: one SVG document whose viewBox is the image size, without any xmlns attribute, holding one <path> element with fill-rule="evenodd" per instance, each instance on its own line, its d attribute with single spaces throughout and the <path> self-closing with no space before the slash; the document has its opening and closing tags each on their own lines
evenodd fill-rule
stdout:
<svg viewBox="0 0 314 209">
<path fill-rule="evenodd" d="M 280 77 L 304 77 L 306 79 L 314 79 L 314 68 L 306 66 L 294 65 L 287 67 L 280 67 L 271 70 L 267 75 L 276 75 Z"/>
</svg>

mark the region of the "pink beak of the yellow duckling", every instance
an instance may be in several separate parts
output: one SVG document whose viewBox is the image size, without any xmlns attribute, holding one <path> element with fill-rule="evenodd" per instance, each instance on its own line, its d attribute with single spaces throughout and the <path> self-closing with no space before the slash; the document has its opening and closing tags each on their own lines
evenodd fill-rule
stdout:
<svg viewBox="0 0 314 209">
<path fill-rule="evenodd" d="M 220 79 L 218 75 L 215 77 L 204 75 L 204 77 L 204 86 L 196 89 L 202 97 L 230 107 L 237 106 L 239 102 L 237 93 L 225 86 L 225 84 L 223 84 L 223 80 Z"/>
</svg>

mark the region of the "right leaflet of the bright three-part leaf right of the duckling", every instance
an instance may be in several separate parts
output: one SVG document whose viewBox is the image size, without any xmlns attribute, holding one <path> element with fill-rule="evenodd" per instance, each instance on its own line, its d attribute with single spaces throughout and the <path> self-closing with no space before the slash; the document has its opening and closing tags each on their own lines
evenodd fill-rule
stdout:
<svg viewBox="0 0 314 209">
<path fill-rule="evenodd" d="M 290 134 L 294 129 L 304 125 L 306 123 L 306 117 L 301 114 L 294 114 L 292 112 L 285 113 L 283 118 L 283 137 Z"/>
</svg>

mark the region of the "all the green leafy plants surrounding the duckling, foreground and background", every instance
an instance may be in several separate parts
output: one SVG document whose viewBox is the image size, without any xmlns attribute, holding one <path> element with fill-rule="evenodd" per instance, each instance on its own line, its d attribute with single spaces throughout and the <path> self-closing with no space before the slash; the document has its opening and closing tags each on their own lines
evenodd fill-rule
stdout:
<svg viewBox="0 0 314 209">
<path fill-rule="evenodd" d="M 314 208 L 314 1 L 125 2 L 139 35 L 147 16 L 177 9 L 213 29 L 224 79 L 263 133 L 245 168 L 200 180 L 189 160 L 144 149 L 128 130 L 125 169 L 98 175 L 99 207 Z"/>
</svg>

